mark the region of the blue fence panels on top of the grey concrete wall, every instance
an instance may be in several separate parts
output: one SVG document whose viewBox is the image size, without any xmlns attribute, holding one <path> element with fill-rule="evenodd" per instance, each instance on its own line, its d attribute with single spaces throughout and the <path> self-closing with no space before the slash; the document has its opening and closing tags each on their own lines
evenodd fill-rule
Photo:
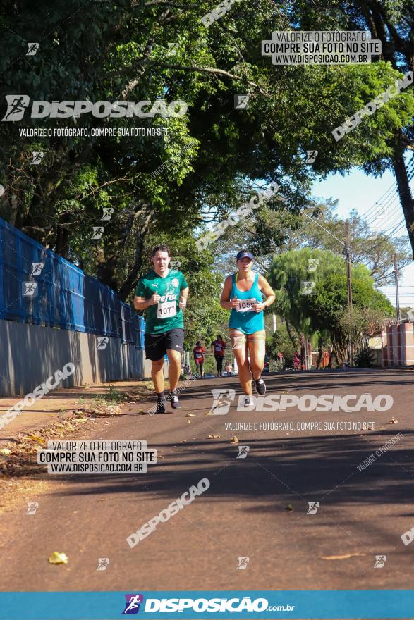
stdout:
<svg viewBox="0 0 414 620">
<path fill-rule="evenodd" d="M 0 318 L 144 348 L 144 319 L 114 290 L 1 218 Z"/>
</svg>

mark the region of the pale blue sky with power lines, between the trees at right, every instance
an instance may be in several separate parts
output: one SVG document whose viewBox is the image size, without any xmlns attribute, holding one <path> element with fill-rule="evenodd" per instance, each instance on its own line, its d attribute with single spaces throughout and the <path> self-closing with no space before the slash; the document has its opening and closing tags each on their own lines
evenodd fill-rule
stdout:
<svg viewBox="0 0 414 620">
<path fill-rule="evenodd" d="M 414 179 L 411 180 L 411 189 L 414 191 Z M 366 214 L 372 230 L 391 230 L 398 228 L 398 223 L 403 221 L 403 211 L 395 190 L 395 178 L 390 171 L 386 171 L 381 178 L 374 178 L 353 168 L 351 173 L 344 177 L 334 174 L 329 175 L 325 181 L 315 182 L 312 194 L 315 198 L 337 199 L 339 202 L 336 213 L 341 218 L 346 218 L 352 209 L 356 209 L 360 215 Z M 379 199 L 380 206 L 375 205 Z M 384 207 L 384 213 L 381 213 L 381 208 Z M 396 236 L 407 236 L 405 225 L 396 231 Z M 398 285 L 400 306 L 414 307 L 414 261 L 401 270 Z M 396 305 L 394 285 L 380 287 L 379 290 Z"/>
</svg>

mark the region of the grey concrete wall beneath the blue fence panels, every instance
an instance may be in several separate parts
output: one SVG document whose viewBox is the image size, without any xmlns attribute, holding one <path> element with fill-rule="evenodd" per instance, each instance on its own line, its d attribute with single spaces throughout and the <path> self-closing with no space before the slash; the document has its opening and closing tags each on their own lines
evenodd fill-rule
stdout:
<svg viewBox="0 0 414 620">
<path fill-rule="evenodd" d="M 75 373 L 59 387 L 142 378 L 144 352 L 102 336 L 0 319 L 0 396 L 19 396 L 72 362 Z"/>
</svg>

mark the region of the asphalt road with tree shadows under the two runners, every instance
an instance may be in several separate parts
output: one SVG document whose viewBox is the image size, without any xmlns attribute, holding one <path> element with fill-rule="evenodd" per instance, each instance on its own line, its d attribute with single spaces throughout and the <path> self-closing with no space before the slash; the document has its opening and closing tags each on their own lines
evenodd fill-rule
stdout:
<svg viewBox="0 0 414 620">
<path fill-rule="evenodd" d="M 236 411 L 205 415 L 212 388 L 240 393 L 237 378 L 197 380 L 174 414 L 98 419 L 71 439 L 138 439 L 159 462 L 132 476 L 52 476 L 22 492 L 1 517 L 2 590 L 334 590 L 412 588 L 414 371 L 281 373 L 268 395 L 391 395 L 389 411 Z M 152 403 L 146 403 L 149 409 Z M 187 417 L 187 414 L 195 414 Z M 390 424 L 391 417 L 398 420 Z M 190 421 L 190 424 L 188 424 Z M 233 430 L 229 423 L 293 422 L 294 430 Z M 372 430 L 300 430 L 297 423 L 373 423 Z M 248 428 L 248 427 L 246 427 Z M 362 471 L 386 441 L 396 445 Z M 219 435 L 211 439 L 209 435 Z M 238 459 L 238 445 L 248 445 Z M 209 489 L 132 549 L 126 537 L 191 485 Z M 28 515 L 27 502 L 39 502 Z M 319 502 L 316 514 L 308 502 Z M 288 505 L 290 508 L 287 509 Z M 65 552 L 55 566 L 51 552 Z M 11 552 L 11 553 L 10 553 Z M 322 559 L 358 554 L 347 559 Z M 386 555 L 382 568 L 375 556 Z M 238 558 L 248 557 L 238 569 Z M 98 558 L 109 558 L 97 571 Z"/>
</svg>

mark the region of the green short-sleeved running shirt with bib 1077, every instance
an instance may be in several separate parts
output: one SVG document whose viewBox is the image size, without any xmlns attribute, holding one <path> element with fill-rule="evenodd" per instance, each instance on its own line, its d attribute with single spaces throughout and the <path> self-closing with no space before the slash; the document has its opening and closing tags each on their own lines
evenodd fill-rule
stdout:
<svg viewBox="0 0 414 620">
<path fill-rule="evenodd" d="M 152 270 L 138 281 L 135 289 L 137 297 L 150 299 L 154 293 L 161 296 L 159 304 L 148 306 L 145 310 L 146 334 L 164 334 L 172 329 L 184 329 L 183 311 L 178 308 L 178 302 L 180 291 L 187 287 L 183 273 L 173 269 L 165 278 Z"/>
</svg>

